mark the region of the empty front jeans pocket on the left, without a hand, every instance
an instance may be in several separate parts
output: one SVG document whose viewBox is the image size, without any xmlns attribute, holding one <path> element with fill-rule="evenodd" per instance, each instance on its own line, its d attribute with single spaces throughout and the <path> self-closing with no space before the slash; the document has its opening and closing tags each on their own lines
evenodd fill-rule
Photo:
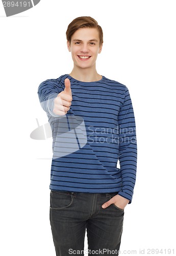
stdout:
<svg viewBox="0 0 176 256">
<path fill-rule="evenodd" d="M 50 193 L 50 209 L 61 210 L 73 203 L 73 193 L 69 191 L 54 191 Z"/>
</svg>

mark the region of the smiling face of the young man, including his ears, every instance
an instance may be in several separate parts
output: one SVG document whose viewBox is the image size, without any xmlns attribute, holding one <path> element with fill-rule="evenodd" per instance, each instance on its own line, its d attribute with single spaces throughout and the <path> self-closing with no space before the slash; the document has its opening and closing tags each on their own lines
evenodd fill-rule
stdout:
<svg viewBox="0 0 176 256">
<path fill-rule="evenodd" d="M 98 53 L 102 51 L 99 46 L 99 32 L 96 28 L 80 28 L 67 41 L 68 50 L 74 62 L 74 68 L 95 68 Z"/>
</svg>

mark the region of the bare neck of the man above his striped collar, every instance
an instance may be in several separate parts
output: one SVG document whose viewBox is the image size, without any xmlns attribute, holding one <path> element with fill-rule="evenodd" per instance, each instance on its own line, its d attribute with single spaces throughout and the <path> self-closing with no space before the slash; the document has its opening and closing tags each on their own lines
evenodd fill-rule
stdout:
<svg viewBox="0 0 176 256">
<path fill-rule="evenodd" d="M 69 75 L 74 79 L 83 82 L 93 82 L 102 79 L 102 76 L 96 72 L 96 69 L 90 70 L 74 67 Z"/>
</svg>

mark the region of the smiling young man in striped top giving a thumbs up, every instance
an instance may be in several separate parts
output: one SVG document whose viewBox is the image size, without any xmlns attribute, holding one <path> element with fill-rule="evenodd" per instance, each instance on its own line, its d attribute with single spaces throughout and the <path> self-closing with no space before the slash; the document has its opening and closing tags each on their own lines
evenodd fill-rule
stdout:
<svg viewBox="0 0 176 256">
<path fill-rule="evenodd" d="M 103 46 L 96 20 L 74 19 L 66 36 L 71 73 L 38 89 L 53 132 L 50 221 L 56 255 L 84 255 L 85 230 L 86 253 L 118 255 L 136 179 L 133 106 L 127 87 L 96 71 Z"/>
</svg>

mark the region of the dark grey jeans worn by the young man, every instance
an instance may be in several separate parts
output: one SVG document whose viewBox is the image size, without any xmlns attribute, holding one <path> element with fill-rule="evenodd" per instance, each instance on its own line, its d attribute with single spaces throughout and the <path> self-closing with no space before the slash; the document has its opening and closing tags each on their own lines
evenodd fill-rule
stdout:
<svg viewBox="0 0 176 256">
<path fill-rule="evenodd" d="M 118 255 L 124 210 L 114 204 L 102 208 L 115 195 L 51 190 L 50 223 L 57 256 Z"/>
</svg>

